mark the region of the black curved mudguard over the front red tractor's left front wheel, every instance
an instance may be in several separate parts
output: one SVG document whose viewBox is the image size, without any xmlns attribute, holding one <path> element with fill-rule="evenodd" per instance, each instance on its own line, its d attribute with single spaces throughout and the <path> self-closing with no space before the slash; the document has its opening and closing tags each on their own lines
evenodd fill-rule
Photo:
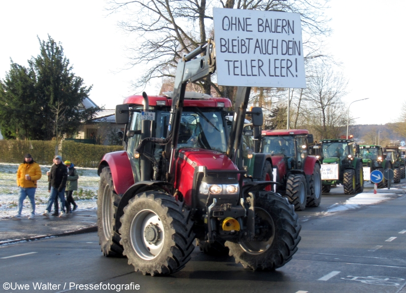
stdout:
<svg viewBox="0 0 406 293">
<path fill-rule="evenodd" d="M 121 227 L 120 218 L 124 214 L 124 208 L 128 205 L 130 199 L 132 199 L 136 194 L 140 192 L 154 190 L 155 189 L 154 186 L 159 186 L 162 188 L 162 186 L 165 185 L 168 186 L 171 185 L 171 183 L 165 181 L 141 181 L 133 184 L 130 188 L 128 188 L 124 192 L 117 206 L 115 230 L 118 231 Z"/>
</svg>

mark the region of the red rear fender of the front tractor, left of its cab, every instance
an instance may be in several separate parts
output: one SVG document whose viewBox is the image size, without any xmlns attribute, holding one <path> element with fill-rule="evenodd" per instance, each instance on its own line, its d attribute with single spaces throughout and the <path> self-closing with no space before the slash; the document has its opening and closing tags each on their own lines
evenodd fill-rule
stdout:
<svg viewBox="0 0 406 293">
<path fill-rule="evenodd" d="M 134 184 L 134 175 L 126 151 L 105 154 L 98 166 L 97 175 L 100 175 L 101 170 L 105 167 L 110 167 L 114 191 L 117 194 L 123 194 L 132 184 Z"/>
</svg>

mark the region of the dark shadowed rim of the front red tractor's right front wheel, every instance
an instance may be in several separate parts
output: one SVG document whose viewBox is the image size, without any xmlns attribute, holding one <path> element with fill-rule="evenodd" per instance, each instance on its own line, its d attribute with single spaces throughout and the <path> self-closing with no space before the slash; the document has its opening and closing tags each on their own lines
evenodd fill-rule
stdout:
<svg viewBox="0 0 406 293">
<path fill-rule="evenodd" d="M 258 215 L 258 217 L 261 219 L 261 223 L 267 222 L 268 231 L 264 234 L 266 235 L 267 240 L 266 241 L 253 240 L 239 243 L 241 248 L 243 248 L 245 252 L 253 255 L 258 255 L 268 250 L 268 248 L 272 245 L 272 242 L 274 241 L 275 238 L 275 224 L 274 220 L 269 215 L 269 213 L 262 208 L 255 208 L 255 215 L 256 216 Z"/>
</svg>

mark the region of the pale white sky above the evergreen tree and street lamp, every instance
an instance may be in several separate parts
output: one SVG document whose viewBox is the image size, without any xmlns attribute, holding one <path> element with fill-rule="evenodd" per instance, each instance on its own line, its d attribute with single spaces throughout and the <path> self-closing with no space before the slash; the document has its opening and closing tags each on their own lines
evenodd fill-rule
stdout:
<svg viewBox="0 0 406 293">
<path fill-rule="evenodd" d="M 395 122 L 405 101 L 400 85 L 406 68 L 401 38 L 406 2 L 331 0 L 329 6 L 326 14 L 333 34 L 326 40 L 328 51 L 341 62 L 349 82 L 343 100 L 349 105 L 368 98 L 350 106 L 353 123 Z M 0 2 L 0 79 L 10 70 L 10 58 L 27 66 L 27 60 L 39 53 L 38 37 L 47 40 L 49 34 L 61 42 L 73 72 L 93 86 L 89 97 L 98 106 L 115 109 L 125 96 L 141 94 L 131 88 L 131 81 L 143 68 L 128 69 L 125 50 L 134 36 L 117 26 L 126 16 L 108 15 L 105 7 L 100 0 Z M 158 94 L 159 82 L 145 91 Z"/>
</svg>

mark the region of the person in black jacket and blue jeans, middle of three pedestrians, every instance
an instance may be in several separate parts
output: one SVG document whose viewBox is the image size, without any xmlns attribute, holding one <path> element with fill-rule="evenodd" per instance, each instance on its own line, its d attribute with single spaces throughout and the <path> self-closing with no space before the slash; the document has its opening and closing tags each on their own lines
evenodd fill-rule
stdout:
<svg viewBox="0 0 406 293">
<path fill-rule="evenodd" d="M 63 165 L 61 156 L 54 156 L 53 159 L 54 165 L 52 165 L 51 170 L 49 171 L 49 184 L 48 192 L 49 199 L 47 209 L 43 213 L 44 216 L 49 217 L 51 213 L 52 204 L 58 197 L 60 200 L 60 215 L 63 217 L 65 215 L 65 187 L 67 179 L 67 168 Z"/>
</svg>

